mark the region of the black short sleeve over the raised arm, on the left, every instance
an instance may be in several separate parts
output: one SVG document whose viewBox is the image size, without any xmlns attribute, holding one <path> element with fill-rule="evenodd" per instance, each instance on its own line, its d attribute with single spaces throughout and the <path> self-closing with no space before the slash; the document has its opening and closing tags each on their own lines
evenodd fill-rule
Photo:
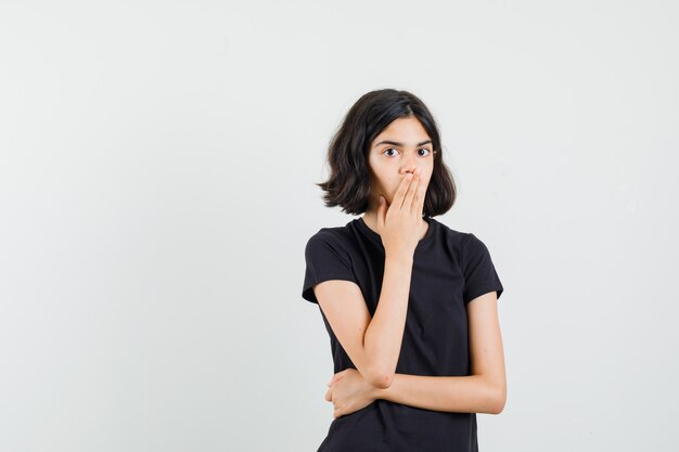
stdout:
<svg viewBox="0 0 679 452">
<path fill-rule="evenodd" d="M 304 251 L 306 272 L 302 298 L 318 305 L 313 286 L 329 280 L 353 281 L 358 284 L 347 247 L 341 237 L 321 230 L 309 238 Z"/>
</svg>

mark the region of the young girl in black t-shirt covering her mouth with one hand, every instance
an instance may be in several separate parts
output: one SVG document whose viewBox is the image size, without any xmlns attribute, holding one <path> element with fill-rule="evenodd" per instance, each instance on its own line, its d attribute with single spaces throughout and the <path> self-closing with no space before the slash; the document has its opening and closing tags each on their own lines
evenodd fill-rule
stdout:
<svg viewBox="0 0 679 452">
<path fill-rule="evenodd" d="M 490 254 L 433 217 L 456 188 L 437 126 L 408 91 L 349 109 L 328 152 L 328 207 L 363 214 L 305 248 L 303 298 L 318 304 L 335 375 L 318 452 L 477 451 L 476 414 L 507 399 Z"/>
</svg>

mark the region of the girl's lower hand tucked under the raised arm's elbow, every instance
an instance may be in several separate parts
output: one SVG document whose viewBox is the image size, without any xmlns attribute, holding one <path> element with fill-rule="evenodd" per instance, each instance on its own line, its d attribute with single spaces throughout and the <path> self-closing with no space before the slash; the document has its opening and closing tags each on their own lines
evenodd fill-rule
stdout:
<svg viewBox="0 0 679 452">
<path fill-rule="evenodd" d="M 325 400 L 335 405 L 333 417 L 351 414 L 368 406 L 377 399 L 377 389 L 372 386 L 356 369 L 345 369 L 333 375 L 328 384 Z"/>
</svg>

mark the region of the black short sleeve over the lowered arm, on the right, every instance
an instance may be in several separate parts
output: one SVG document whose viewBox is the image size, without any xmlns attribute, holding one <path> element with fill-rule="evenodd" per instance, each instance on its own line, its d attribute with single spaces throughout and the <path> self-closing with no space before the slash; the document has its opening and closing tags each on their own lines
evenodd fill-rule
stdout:
<svg viewBox="0 0 679 452">
<path fill-rule="evenodd" d="M 488 292 L 496 290 L 498 299 L 504 289 L 495 270 L 486 245 L 469 233 L 463 245 L 464 305 Z"/>
</svg>

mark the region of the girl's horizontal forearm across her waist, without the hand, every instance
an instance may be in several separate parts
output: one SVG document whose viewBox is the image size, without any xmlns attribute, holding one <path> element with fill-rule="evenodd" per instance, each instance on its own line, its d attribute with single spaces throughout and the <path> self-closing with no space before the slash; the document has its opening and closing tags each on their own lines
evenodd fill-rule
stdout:
<svg viewBox="0 0 679 452">
<path fill-rule="evenodd" d="M 392 386 L 375 388 L 375 399 L 434 411 L 499 414 L 505 396 L 482 375 L 395 374 Z"/>
</svg>

